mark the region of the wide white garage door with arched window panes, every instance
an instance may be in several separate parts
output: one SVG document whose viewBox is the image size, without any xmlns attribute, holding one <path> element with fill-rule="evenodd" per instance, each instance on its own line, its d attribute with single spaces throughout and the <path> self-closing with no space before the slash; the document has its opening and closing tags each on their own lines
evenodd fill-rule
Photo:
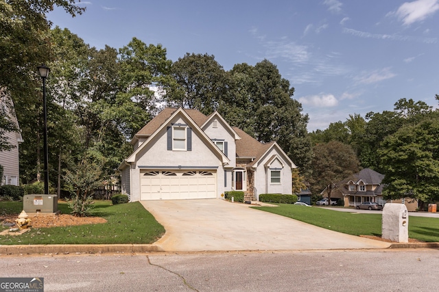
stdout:
<svg viewBox="0 0 439 292">
<path fill-rule="evenodd" d="M 216 198 L 213 170 L 142 170 L 141 200 Z"/>
</svg>

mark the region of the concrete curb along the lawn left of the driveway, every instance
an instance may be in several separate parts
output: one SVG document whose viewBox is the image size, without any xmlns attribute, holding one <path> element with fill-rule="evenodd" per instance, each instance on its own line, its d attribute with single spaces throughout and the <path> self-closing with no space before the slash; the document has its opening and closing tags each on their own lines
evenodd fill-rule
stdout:
<svg viewBox="0 0 439 292">
<path fill-rule="evenodd" d="M 152 244 L 48 244 L 0 245 L 0 254 L 75 254 L 75 253 L 163 252 Z"/>
</svg>

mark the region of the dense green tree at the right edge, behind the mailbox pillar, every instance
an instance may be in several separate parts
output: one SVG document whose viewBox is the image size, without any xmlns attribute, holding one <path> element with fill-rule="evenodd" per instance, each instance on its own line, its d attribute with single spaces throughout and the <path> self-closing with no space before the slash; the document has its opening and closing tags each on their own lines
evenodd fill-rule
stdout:
<svg viewBox="0 0 439 292">
<path fill-rule="evenodd" d="M 384 198 L 439 199 L 439 113 L 389 135 L 379 150 Z"/>
</svg>

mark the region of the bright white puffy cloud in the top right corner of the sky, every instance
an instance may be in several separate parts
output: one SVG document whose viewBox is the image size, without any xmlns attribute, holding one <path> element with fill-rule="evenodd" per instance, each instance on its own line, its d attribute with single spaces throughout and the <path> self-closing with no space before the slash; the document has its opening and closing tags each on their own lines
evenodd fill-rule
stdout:
<svg viewBox="0 0 439 292">
<path fill-rule="evenodd" d="M 418 21 L 433 15 L 439 10 L 439 0 L 416 0 L 405 2 L 399 6 L 395 12 L 389 12 L 387 15 L 396 15 L 404 25 L 411 25 Z"/>
</svg>

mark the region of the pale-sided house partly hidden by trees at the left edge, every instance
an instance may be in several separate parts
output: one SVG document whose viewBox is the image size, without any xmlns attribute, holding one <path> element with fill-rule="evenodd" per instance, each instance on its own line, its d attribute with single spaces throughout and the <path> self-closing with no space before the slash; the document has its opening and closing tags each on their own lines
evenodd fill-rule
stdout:
<svg viewBox="0 0 439 292">
<path fill-rule="evenodd" d="M 14 105 L 4 89 L 0 90 L 0 112 L 6 114 L 17 127 L 19 126 L 14 113 Z M 6 132 L 3 137 L 6 137 L 14 148 L 0 151 L 0 165 L 3 166 L 0 185 L 19 185 L 19 144 L 23 142 L 23 138 L 19 132 Z"/>
</svg>

